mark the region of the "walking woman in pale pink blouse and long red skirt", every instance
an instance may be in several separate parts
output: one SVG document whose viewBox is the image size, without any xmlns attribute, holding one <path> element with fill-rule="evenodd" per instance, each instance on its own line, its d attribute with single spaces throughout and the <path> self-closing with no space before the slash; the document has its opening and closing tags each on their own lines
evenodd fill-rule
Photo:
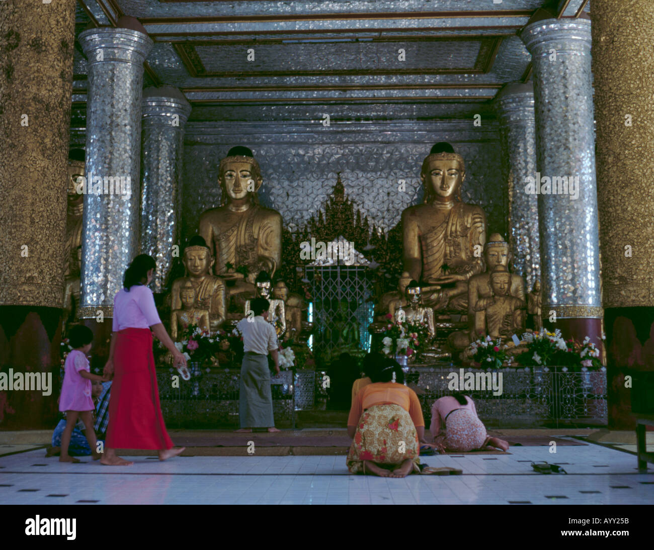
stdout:
<svg viewBox="0 0 654 550">
<path fill-rule="evenodd" d="M 133 464 L 118 457 L 116 449 L 158 449 L 160 461 L 184 451 L 184 447 L 173 448 L 159 402 L 152 332 L 171 351 L 174 364 L 186 366 L 186 358 L 165 331 L 152 291 L 146 287 L 155 267 L 147 254 L 135 257 L 125 272 L 124 288 L 114 297 L 111 347 L 104 370 L 114 378 L 105 453 L 100 459 L 107 466 Z"/>
</svg>

